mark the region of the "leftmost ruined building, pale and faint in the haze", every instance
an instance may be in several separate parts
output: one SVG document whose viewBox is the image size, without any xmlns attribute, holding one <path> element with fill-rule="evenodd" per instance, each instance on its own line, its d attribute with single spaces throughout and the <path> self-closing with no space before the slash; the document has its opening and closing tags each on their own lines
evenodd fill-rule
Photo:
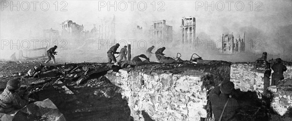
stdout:
<svg viewBox="0 0 292 121">
<path fill-rule="evenodd" d="M 62 36 L 80 36 L 80 32 L 83 30 L 83 25 L 78 25 L 72 20 L 67 20 L 61 23 Z"/>
</svg>

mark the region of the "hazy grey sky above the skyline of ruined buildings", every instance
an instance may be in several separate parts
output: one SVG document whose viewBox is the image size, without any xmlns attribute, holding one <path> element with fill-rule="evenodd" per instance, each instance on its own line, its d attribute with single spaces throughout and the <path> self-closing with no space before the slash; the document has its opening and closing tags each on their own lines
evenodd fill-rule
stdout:
<svg viewBox="0 0 292 121">
<path fill-rule="evenodd" d="M 110 7 L 110 10 L 108 10 L 108 3 L 114 4 L 115 1 L 117 10 L 115 11 L 114 7 Z M 62 4 L 61 1 L 58 1 L 58 6 L 55 5 L 55 0 L 39 1 L 36 3 L 35 11 L 34 3 L 31 1 L 25 3 L 19 1 L 19 11 L 17 11 L 17 7 L 13 7 L 11 11 L 11 1 L 8 1 L 9 4 L 7 5 L 7 1 L 1 0 L 0 39 L 31 39 L 27 36 L 30 31 L 42 34 L 43 29 L 61 30 L 60 24 L 65 20 L 73 20 L 77 24 L 83 24 L 85 30 L 91 30 L 94 23 L 113 15 L 116 18 L 117 39 L 125 40 L 130 39 L 126 38 L 126 35 L 129 30 L 137 25 L 148 29 L 152 21 L 162 19 L 166 20 L 166 24 L 173 26 L 175 33 L 180 33 L 183 16 L 196 17 L 196 34 L 204 32 L 210 36 L 210 39 L 214 40 L 219 40 L 223 32 L 242 34 L 239 28 L 244 27 L 253 27 L 262 31 L 265 35 L 269 35 L 278 31 L 275 29 L 279 27 L 292 25 L 291 0 L 167 0 L 155 1 L 155 3 L 152 0 L 115 1 L 69 0 Z M 139 2 L 140 7 L 138 7 Z M 214 2 L 213 5 L 212 2 Z M 24 11 L 27 9 L 27 3 L 29 3 L 30 8 L 28 11 Z M 43 10 L 40 9 L 41 3 Z M 47 11 L 44 10 L 47 8 L 46 3 L 50 5 Z M 126 10 L 124 9 L 125 3 L 128 7 Z M 131 3 L 133 4 L 133 11 L 131 10 Z M 17 1 L 13 1 L 13 4 L 17 4 Z M 146 4 L 145 9 L 143 9 L 144 4 Z M 153 4 L 155 4 L 155 7 Z M 206 4 L 211 7 L 207 7 Z M 224 5 L 224 8 L 222 8 L 222 5 Z M 241 5 L 244 5 L 244 7 L 242 8 Z M 63 10 L 66 9 L 67 11 L 60 11 L 62 7 L 64 7 Z M 292 41 L 291 38 L 289 41 Z M 292 42 L 289 46 L 291 44 Z"/>
</svg>

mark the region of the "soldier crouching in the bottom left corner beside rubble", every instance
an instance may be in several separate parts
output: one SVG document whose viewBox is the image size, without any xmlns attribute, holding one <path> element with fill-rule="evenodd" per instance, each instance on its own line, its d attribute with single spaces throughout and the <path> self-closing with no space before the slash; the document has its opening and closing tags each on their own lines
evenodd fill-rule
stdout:
<svg viewBox="0 0 292 121">
<path fill-rule="evenodd" d="M 24 94 L 25 90 L 19 91 L 19 89 L 20 82 L 17 79 L 7 82 L 5 90 L 0 95 L 1 113 L 9 113 L 28 104 L 28 95 Z"/>
</svg>

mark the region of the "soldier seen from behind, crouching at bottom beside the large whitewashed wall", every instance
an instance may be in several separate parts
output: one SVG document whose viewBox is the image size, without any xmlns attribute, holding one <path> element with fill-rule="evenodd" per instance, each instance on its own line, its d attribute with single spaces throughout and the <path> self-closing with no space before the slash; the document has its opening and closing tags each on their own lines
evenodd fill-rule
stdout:
<svg viewBox="0 0 292 121">
<path fill-rule="evenodd" d="M 229 121 L 234 116 L 238 108 L 237 100 L 232 97 L 234 83 L 231 81 L 222 81 L 219 87 L 210 91 L 210 101 L 215 121 Z"/>
</svg>

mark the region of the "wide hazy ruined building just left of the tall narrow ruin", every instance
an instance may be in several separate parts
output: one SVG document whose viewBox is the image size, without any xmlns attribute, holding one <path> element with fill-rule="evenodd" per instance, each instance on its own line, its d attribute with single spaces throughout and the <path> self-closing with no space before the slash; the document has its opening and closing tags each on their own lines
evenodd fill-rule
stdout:
<svg viewBox="0 0 292 121">
<path fill-rule="evenodd" d="M 165 20 L 155 21 L 150 27 L 149 34 L 152 39 L 172 42 L 172 26 L 166 25 Z"/>
</svg>

